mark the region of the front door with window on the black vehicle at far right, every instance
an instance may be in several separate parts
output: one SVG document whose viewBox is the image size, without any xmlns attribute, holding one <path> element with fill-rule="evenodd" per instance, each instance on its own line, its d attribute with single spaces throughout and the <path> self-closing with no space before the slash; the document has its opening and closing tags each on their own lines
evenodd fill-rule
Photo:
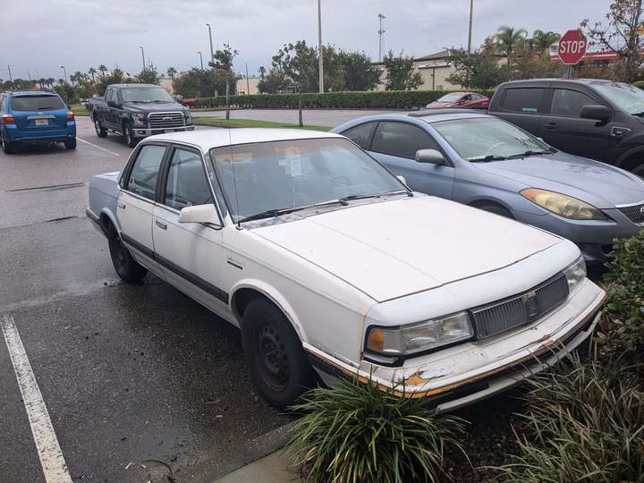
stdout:
<svg viewBox="0 0 644 483">
<path fill-rule="evenodd" d="M 613 118 L 602 123 L 581 119 L 580 112 L 583 106 L 606 106 L 606 103 L 578 87 L 554 85 L 553 88 L 547 114 L 541 117 L 539 137 L 564 152 L 605 160 L 618 140 L 612 132 Z"/>
</svg>

